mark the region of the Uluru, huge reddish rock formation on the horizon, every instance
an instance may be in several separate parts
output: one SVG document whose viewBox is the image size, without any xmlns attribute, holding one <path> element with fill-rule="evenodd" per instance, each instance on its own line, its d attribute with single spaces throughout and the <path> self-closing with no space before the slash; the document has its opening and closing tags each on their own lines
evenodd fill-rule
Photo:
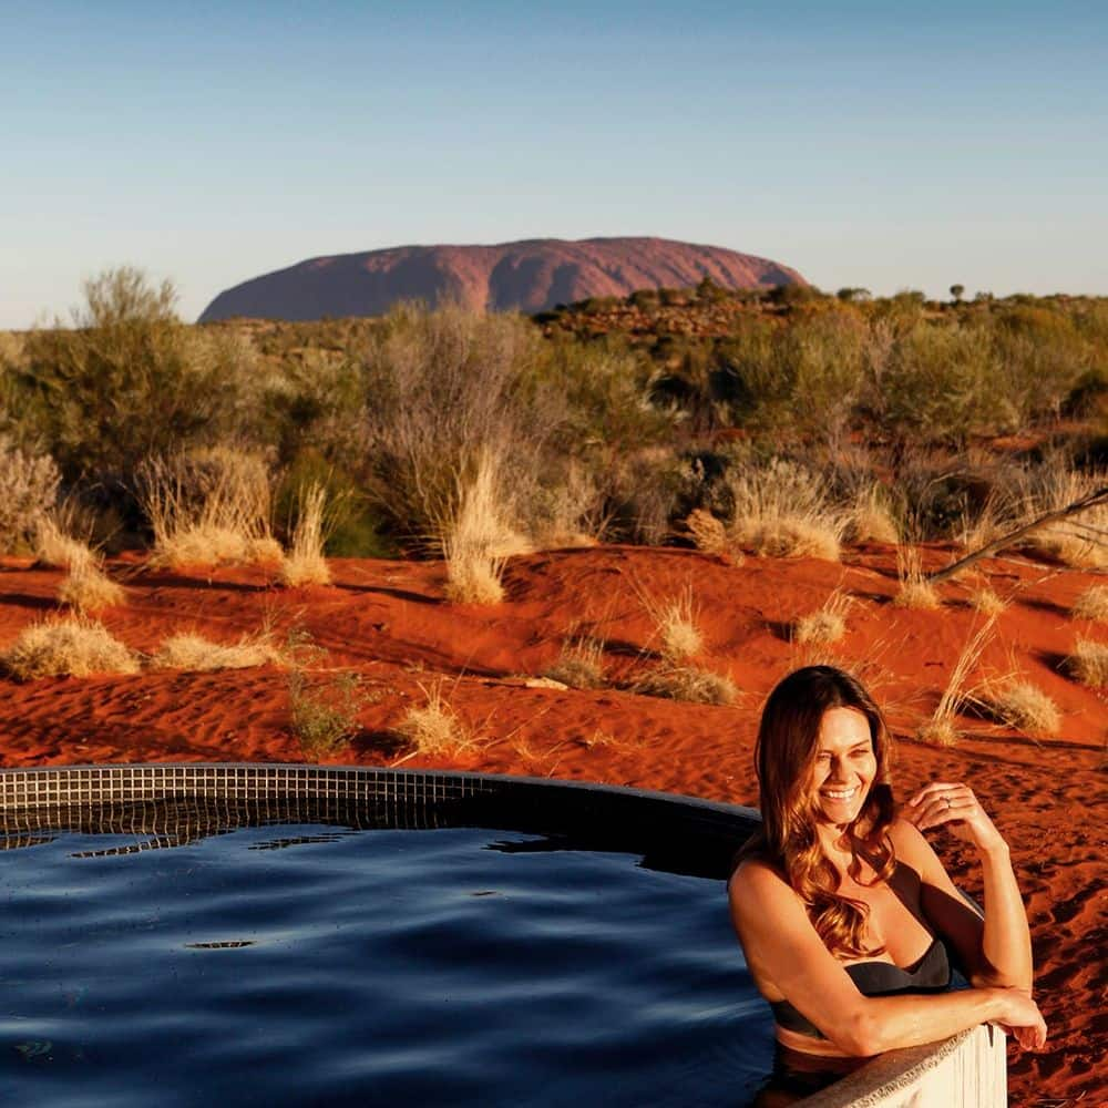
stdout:
<svg viewBox="0 0 1108 1108">
<path fill-rule="evenodd" d="M 794 269 L 720 246 L 665 238 L 534 238 L 495 246 L 398 246 L 309 258 L 220 293 L 199 322 L 377 316 L 401 300 L 536 312 L 640 288 L 804 285 Z"/>
</svg>

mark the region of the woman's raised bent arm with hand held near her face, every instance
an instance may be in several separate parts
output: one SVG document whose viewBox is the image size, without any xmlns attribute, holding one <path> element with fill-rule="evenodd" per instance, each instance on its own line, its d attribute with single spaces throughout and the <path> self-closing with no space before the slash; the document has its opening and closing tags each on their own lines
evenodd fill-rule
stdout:
<svg viewBox="0 0 1108 1108">
<path fill-rule="evenodd" d="M 1022 988 L 1029 996 L 1032 941 L 1027 914 L 1012 872 L 1008 844 L 985 814 L 973 790 L 965 784 L 932 782 L 909 800 L 902 814 L 919 831 L 945 825 L 957 838 L 976 847 L 985 884 L 985 920 L 979 929 L 965 919 L 962 897 L 923 837 L 896 843 L 899 856 L 920 870 L 924 913 L 958 946 L 971 982 Z M 975 930 L 978 930 L 977 941 L 967 942 Z"/>
</svg>

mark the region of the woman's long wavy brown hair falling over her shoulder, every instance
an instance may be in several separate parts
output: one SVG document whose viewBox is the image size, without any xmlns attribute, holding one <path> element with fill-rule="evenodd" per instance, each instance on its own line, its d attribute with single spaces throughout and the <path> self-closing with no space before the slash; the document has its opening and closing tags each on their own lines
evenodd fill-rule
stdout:
<svg viewBox="0 0 1108 1108">
<path fill-rule="evenodd" d="M 804 902 L 824 946 L 841 957 L 881 954 L 863 942 L 869 906 L 838 892 L 839 872 L 817 833 L 818 803 L 811 789 L 820 725 L 831 708 L 860 711 L 870 725 L 876 772 L 858 817 L 847 829 L 849 873 L 860 880 L 864 860 L 872 883 L 888 880 L 896 864 L 889 825 L 893 821 L 889 731 L 873 698 L 850 674 L 833 666 L 806 666 L 769 695 L 755 748 L 761 794 L 761 829 L 740 856 L 757 855 L 776 865 Z"/>
</svg>

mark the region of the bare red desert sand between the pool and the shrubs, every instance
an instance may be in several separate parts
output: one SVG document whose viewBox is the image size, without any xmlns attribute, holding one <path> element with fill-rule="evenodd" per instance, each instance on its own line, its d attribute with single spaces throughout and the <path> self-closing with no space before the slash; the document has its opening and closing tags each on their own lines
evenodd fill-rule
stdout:
<svg viewBox="0 0 1108 1108">
<path fill-rule="evenodd" d="M 945 564 L 948 550 L 929 552 Z M 491 607 L 442 599 L 433 563 L 339 560 L 335 584 L 274 587 L 261 570 L 147 571 L 137 556 L 110 567 L 129 602 L 103 623 L 130 647 L 153 653 L 171 634 L 195 630 L 223 643 L 268 625 L 299 627 L 326 648 L 319 665 L 353 667 L 373 702 L 340 763 L 458 767 L 664 789 L 752 804 L 751 752 L 766 693 L 812 660 L 790 644 L 790 620 L 818 608 L 834 587 L 854 598 L 847 637 L 823 657 L 862 664 L 863 679 L 885 706 L 897 737 L 901 797 L 933 779 L 970 783 L 1012 845 L 1038 966 L 1039 1001 L 1050 1028 L 1047 1050 L 1013 1050 L 1012 1102 L 1061 1108 L 1102 1102 L 1095 1073 L 1108 1040 L 1102 998 L 1105 784 L 1108 706 L 1104 689 L 1063 675 L 1076 637 L 1108 633 L 1069 618 L 1090 574 L 1018 558 L 983 564 L 992 586 L 1013 603 L 977 677 L 1018 670 L 1063 711 L 1060 735 L 1029 738 L 964 719 L 954 748 L 913 736 L 937 701 L 951 667 L 981 616 L 970 585 L 942 587 L 937 612 L 889 603 L 895 592 L 888 547 L 853 552 L 842 566 L 817 561 L 749 560 L 742 566 L 689 551 L 598 547 L 513 560 L 507 599 Z M 61 573 L 0 563 L 0 649 L 24 625 L 57 609 Z M 979 584 L 979 582 L 978 582 Z M 698 664 L 728 674 L 741 690 L 733 707 L 702 707 L 605 688 L 527 687 L 557 657 L 570 634 L 607 643 L 611 680 L 652 665 L 646 602 L 691 585 L 704 632 Z M 443 693 L 482 739 L 452 759 L 410 757 L 390 733 L 423 689 Z M 289 729 L 287 678 L 264 667 L 213 674 L 144 670 L 132 677 L 0 678 L 0 763 L 57 766 L 125 761 L 300 761 Z M 970 892 L 979 893 L 970 853 L 935 843 Z"/>
</svg>

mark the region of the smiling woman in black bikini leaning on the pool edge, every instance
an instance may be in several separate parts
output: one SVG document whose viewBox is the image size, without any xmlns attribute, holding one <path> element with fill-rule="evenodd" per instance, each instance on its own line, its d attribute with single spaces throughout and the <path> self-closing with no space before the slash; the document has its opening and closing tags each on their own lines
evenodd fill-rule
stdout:
<svg viewBox="0 0 1108 1108">
<path fill-rule="evenodd" d="M 839 669 L 799 669 L 766 702 L 763 823 L 729 896 L 787 1069 L 841 1071 L 985 1022 L 1025 1049 L 1046 1042 L 1007 844 L 964 784 L 932 782 L 897 814 L 890 753 L 876 705 Z M 935 828 L 976 848 L 984 915 L 924 839 Z M 951 961 L 973 988 L 948 991 Z"/>
</svg>

